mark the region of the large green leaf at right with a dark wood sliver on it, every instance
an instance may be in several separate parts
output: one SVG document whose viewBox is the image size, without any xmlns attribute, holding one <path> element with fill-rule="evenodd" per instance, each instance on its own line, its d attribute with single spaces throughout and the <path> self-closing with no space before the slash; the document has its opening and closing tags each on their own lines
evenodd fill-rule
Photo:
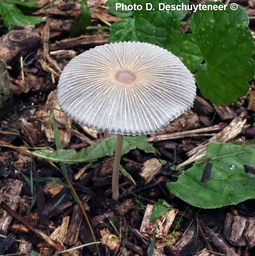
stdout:
<svg viewBox="0 0 255 256">
<path fill-rule="evenodd" d="M 211 177 L 201 182 L 206 159 L 212 163 Z M 255 175 L 245 173 L 243 165 L 255 167 L 255 149 L 227 143 L 208 145 L 207 155 L 178 177 L 167 183 L 176 196 L 196 207 L 219 208 L 255 198 Z"/>
</svg>

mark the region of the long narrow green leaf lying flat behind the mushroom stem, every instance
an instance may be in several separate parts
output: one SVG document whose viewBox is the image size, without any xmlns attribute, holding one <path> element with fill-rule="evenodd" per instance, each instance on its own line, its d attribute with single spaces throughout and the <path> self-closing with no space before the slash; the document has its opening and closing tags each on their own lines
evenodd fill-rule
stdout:
<svg viewBox="0 0 255 256">
<path fill-rule="evenodd" d="M 124 136 L 122 155 L 132 149 L 141 149 L 146 153 L 156 153 L 152 144 L 146 142 L 146 136 Z M 47 159 L 51 162 L 63 162 L 67 164 L 79 162 L 91 162 L 104 156 L 113 156 L 116 147 L 117 137 L 111 136 L 107 139 L 96 142 L 95 144 L 83 148 L 78 153 L 74 149 L 58 149 L 52 153 L 48 149 L 33 151 L 32 155 Z"/>
</svg>

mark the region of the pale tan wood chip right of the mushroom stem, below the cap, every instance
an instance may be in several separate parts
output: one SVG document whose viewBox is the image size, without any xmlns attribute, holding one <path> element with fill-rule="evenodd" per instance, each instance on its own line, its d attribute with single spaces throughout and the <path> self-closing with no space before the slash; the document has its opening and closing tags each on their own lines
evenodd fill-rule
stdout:
<svg viewBox="0 0 255 256">
<path fill-rule="evenodd" d="M 144 183 L 149 183 L 157 174 L 160 174 L 162 164 L 157 158 L 147 160 L 142 167 L 139 175 L 144 179 Z"/>
</svg>

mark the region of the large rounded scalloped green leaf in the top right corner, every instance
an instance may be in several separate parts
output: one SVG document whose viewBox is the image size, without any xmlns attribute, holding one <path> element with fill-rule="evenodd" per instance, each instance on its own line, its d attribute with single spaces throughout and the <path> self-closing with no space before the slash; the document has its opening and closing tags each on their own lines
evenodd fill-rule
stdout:
<svg viewBox="0 0 255 256">
<path fill-rule="evenodd" d="M 208 2 L 223 5 L 221 2 Z M 246 26 L 248 15 L 240 6 L 238 11 L 197 11 L 189 21 L 206 64 L 198 70 L 197 86 L 212 103 L 230 105 L 249 90 L 248 81 L 254 77 L 255 65 L 252 34 Z"/>
</svg>

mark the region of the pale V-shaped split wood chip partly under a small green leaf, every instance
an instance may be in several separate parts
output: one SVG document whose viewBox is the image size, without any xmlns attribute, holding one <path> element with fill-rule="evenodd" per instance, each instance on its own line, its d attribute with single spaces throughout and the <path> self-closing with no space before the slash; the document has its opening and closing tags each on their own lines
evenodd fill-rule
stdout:
<svg viewBox="0 0 255 256">
<path fill-rule="evenodd" d="M 174 219 L 178 212 L 177 209 L 170 209 L 165 212 L 162 217 L 157 219 L 156 221 L 150 221 L 150 215 L 152 214 L 154 209 L 154 205 L 148 204 L 144 213 L 143 221 L 141 224 L 140 232 L 145 237 L 152 237 L 155 224 L 157 223 L 156 228 L 156 238 L 160 238 L 161 236 L 166 236 Z"/>
</svg>

